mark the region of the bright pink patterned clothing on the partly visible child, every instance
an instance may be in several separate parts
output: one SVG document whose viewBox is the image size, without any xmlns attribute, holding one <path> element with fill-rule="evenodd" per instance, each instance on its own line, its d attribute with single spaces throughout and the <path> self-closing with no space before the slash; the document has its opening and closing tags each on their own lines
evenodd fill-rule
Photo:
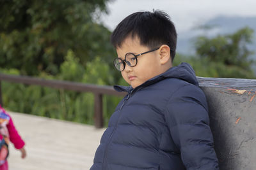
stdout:
<svg viewBox="0 0 256 170">
<path fill-rule="evenodd" d="M 17 132 L 15 125 L 13 124 L 12 117 L 6 113 L 6 111 L 0 106 L 0 141 L 4 141 L 9 144 L 9 139 L 13 143 L 16 149 L 23 148 L 25 145 L 24 141 Z M 6 129 L 6 131 L 5 131 Z M 10 145 L 9 145 L 10 146 Z M 3 149 L 3 148 L 2 148 Z M 0 166 L 0 170 L 8 170 L 7 160 Z"/>
</svg>

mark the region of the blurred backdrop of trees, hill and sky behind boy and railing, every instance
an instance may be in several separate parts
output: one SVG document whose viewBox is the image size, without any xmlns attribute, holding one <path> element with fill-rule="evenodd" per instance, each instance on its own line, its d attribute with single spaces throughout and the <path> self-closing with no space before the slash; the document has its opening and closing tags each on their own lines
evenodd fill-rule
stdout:
<svg viewBox="0 0 256 170">
<path fill-rule="evenodd" d="M 47 80 L 126 85 L 109 36 L 136 11 L 163 10 L 178 32 L 174 65 L 197 76 L 255 78 L 256 1 L 0 0 L 0 72 Z M 93 124 L 93 94 L 2 82 L 11 111 Z M 15 95 L 13 95 L 15 94 Z M 104 96 L 104 123 L 121 97 Z"/>
</svg>

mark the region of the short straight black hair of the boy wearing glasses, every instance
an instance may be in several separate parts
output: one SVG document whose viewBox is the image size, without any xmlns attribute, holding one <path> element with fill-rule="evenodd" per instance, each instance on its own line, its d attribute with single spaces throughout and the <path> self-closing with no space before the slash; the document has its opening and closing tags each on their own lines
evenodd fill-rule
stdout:
<svg viewBox="0 0 256 170">
<path fill-rule="evenodd" d="M 161 45 L 170 47 L 172 61 L 175 57 L 177 33 L 170 16 L 160 10 L 132 13 L 120 22 L 111 34 L 115 48 L 122 46 L 128 36 L 138 36 L 141 45 L 156 48 Z"/>
</svg>

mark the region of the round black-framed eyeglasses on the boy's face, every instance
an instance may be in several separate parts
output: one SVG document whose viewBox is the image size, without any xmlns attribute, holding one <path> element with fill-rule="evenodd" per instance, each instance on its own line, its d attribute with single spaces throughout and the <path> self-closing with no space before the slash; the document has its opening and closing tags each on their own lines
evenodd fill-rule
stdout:
<svg viewBox="0 0 256 170">
<path fill-rule="evenodd" d="M 154 51 L 158 50 L 159 48 L 160 47 L 154 48 L 153 50 L 149 50 L 148 52 L 139 53 L 138 55 L 135 55 L 134 53 L 126 53 L 124 60 L 122 60 L 120 58 L 114 59 L 114 66 L 116 67 L 116 69 L 118 69 L 118 71 L 123 71 L 125 69 L 125 63 L 130 67 L 134 67 L 137 64 L 137 62 L 138 62 L 137 58 L 140 55 L 143 55 L 143 54 L 149 53 L 149 52 L 154 52 Z"/>
</svg>

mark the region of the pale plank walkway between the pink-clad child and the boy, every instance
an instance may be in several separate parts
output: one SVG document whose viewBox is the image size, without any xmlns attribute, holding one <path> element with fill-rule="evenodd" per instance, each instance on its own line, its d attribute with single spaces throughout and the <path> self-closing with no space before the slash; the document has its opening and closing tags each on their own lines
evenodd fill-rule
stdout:
<svg viewBox="0 0 256 170">
<path fill-rule="evenodd" d="M 23 113 L 12 113 L 26 142 L 26 159 L 10 146 L 10 170 L 90 169 L 104 129 Z"/>
</svg>

